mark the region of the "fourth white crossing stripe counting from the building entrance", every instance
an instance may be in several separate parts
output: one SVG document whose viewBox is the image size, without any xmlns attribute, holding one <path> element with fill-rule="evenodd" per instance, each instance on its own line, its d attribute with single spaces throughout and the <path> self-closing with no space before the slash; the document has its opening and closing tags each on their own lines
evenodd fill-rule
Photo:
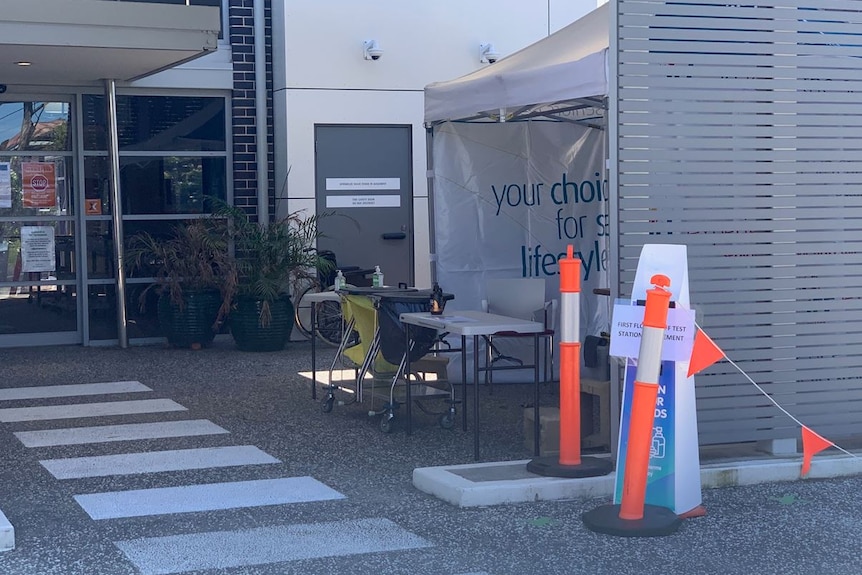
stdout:
<svg viewBox="0 0 862 575">
<path fill-rule="evenodd" d="M 119 455 L 98 455 L 96 457 L 44 459 L 39 463 L 57 479 L 77 479 L 80 477 L 106 477 L 108 475 L 132 475 L 135 473 L 159 473 L 161 471 L 184 471 L 187 469 L 209 469 L 212 467 L 261 465 L 265 463 L 281 463 L 281 461 L 261 451 L 254 445 L 234 445 L 229 447 L 121 453 Z"/>
</svg>

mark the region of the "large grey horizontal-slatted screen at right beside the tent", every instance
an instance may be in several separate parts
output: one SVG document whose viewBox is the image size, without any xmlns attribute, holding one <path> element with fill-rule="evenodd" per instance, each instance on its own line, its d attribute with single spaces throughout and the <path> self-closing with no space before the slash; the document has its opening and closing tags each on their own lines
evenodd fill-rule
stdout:
<svg viewBox="0 0 862 575">
<path fill-rule="evenodd" d="M 862 1 L 617 9 L 620 293 L 643 244 L 686 244 L 727 356 L 821 435 L 862 434 Z M 799 437 L 727 362 L 696 388 L 701 444 Z"/>
</svg>

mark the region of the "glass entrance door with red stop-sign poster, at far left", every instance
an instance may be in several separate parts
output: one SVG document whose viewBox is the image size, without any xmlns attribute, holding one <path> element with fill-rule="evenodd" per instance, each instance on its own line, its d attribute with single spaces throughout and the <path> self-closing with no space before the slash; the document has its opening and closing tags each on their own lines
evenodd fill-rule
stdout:
<svg viewBox="0 0 862 575">
<path fill-rule="evenodd" d="M 71 109 L 0 102 L 0 347 L 81 342 Z"/>
</svg>

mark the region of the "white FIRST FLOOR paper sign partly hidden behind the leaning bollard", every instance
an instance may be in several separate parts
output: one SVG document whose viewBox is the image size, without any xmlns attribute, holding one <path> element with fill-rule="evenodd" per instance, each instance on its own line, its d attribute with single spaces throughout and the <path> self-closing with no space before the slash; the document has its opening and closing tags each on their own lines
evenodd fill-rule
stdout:
<svg viewBox="0 0 862 575">
<path fill-rule="evenodd" d="M 617 304 L 611 319 L 610 355 L 637 358 L 640 354 L 644 310 L 642 305 Z M 667 310 L 667 330 L 661 348 L 663 361 L 691 358 L 694 345 L 694 311 L 680 307 Z"/>
</svg>

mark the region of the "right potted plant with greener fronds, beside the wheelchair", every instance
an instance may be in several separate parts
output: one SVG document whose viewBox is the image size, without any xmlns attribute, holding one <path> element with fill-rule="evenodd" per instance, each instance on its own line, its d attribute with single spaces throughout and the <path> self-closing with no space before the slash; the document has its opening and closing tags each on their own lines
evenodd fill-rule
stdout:
<svg viewBox="0 0 862 575">
<path fill-rule="evenodd" d="M 231 220 L 237 285 L 229 324 L 244 351 L 279 351 L 294 325 L 291 287 L 304 277 L 327 272 L 332 262 L 317 253 L 319 215 L 292 212 L 275 221 L 253 222 L 242 210 L 223 206 Z"/>
</svg>

